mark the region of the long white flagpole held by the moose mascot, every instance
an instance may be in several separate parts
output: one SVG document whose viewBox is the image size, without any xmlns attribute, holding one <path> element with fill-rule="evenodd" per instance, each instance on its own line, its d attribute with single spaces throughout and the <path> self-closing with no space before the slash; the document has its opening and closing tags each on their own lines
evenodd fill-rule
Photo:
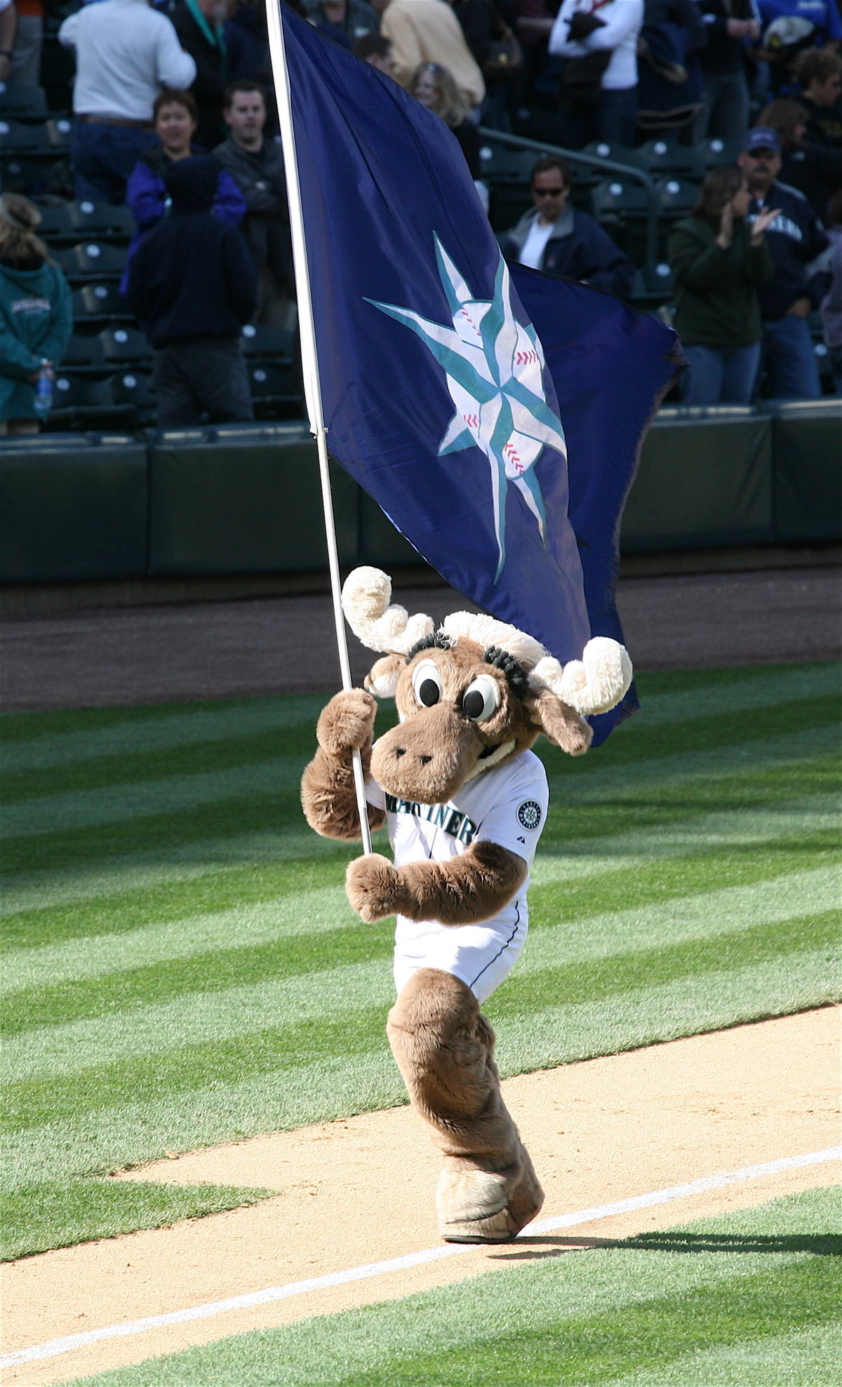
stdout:
<svg viewBox="0 0 842 1387">
<path fill-rule="evenodd" d="M 304 395 L 307 412 L 309 415 L 309 431 L 316 440 L 319 452 L 319 474 L 322 479 L 322 505 L 325 509 L 325 534 L 327 538 L 327 563 L 330 567 L 330 592 L 333 596 L 333 620 L 336 626 L 336 644 L 338 648 L 343 688 L 350 689 L 351 663 L 348 660 L 348 641 L 343 619 L 341 583 L 338 571 L 338 555 L 336 548 L 336 526 L 333 522 L 333 498 L 330 492 L 330 469 L 327 465 L 327 430 L 322 409 L 322 387 L 319 381 L 319 358 L 316 354 L 316 329 L 313 323 L 312 298 L 309 293 L 309 266 L 307 259 L 307 237 L 304 233 L 304 211 L 301 207 L 301 186 L 298 183 L 298 162 L 295 157 L 295 130 L 293 128 L 293 104 L 290 98 L 290 78 L 287 72 L 286 47 L 283 40 L 283 25 L 280 21 L 280 6 L 283 0 L 269 0 L 266 4 L 266 24 L 269 32 L 269 54 L 272 58 L 272 74 L 275 78 L 275 97 L 277 100 L 277 119 L 280 123 L 280 141 L 287 179 L 287 200 L 290 204 L 290 230 L 293 233 L 293 264 L 295 268 L 295 298 L 298 301 L 298 325 L 301 330 L 301 366 L 304 374 Z M 362 757 L 354 752 L 354 785 L 356 788 L 356 806 L 359 810 L 359 827 L 362 829 L 362 847 L 366 856 L 372 852 L 372 835 L 365 798 L 365 775 Z"/>
</svg>

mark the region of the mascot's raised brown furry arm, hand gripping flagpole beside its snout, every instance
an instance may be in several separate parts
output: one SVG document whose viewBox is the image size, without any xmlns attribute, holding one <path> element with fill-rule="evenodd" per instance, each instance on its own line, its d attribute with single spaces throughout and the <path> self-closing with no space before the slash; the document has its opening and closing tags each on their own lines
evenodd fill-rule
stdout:
<svg viewBox="0 0 842 1387">
<path fill-rule="evenodd" d="M 301 807 L 311 828 L 322 838 L 359 838 L 359 810 L 354 785 L 352 750 L 359 748 L 368 773 L 376 703 L 363 689 L 347 689 L 330 699 L 316 724 L 319 749 L 301 778 Z M 380 828 L 386 814 L 368 806 L 370 827 Z"/>
</svg>

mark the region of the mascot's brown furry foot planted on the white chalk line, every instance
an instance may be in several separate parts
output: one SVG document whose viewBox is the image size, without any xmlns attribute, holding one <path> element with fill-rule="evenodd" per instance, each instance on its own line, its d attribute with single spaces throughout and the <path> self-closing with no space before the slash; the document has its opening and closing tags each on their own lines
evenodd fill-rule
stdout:
<svg viewBox="0 0 842 1387">
<path fill-rule="evenodd" d="M 526 1151 L 513 1187 L 510 1176 L 495 1171 L 444 1171 L 436 1194 L 438 1232 L 445 1243 L 509 1243 L 542 1204 Z"/>
</svg>

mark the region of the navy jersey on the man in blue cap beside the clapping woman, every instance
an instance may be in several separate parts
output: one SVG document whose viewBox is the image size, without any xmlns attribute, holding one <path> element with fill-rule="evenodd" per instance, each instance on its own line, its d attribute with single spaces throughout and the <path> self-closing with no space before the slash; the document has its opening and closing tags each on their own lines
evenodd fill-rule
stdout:
<svg viewBox="0 0 842 1387">
<path fill-rule="evenodd" d="M 824 226 L 803 193 L 787 183 L 773 183 L 763 204 L 753 201 L 748 221 L 752 222 L 762 207 L 780 207 L 781 216 L 766 232 L 774 277 L 760 290 L 760 312 L 775 322 L 789 312 L 796 298 L 807 297 L 818 308 L 828 291 L 830 275 L 811 268 L 811 262 L 828 247 Z"/>
</svg>

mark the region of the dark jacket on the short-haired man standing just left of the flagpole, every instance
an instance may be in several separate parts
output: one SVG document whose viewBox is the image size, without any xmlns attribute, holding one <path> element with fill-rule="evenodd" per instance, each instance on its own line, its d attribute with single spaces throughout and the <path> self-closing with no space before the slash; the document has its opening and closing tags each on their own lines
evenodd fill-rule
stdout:
<svg viewBox="0 0 842 1387">
<path fill-rule="evenodd" d="M 255 265 L 270 269 L 293 297 L 293 245 L 280 144 L 265 139 L 261 150 L 252 154 L 227 139 L 216 146 L 214 158 L 237 184 L 246 203 L 243 234 Z"/>
</svg>

